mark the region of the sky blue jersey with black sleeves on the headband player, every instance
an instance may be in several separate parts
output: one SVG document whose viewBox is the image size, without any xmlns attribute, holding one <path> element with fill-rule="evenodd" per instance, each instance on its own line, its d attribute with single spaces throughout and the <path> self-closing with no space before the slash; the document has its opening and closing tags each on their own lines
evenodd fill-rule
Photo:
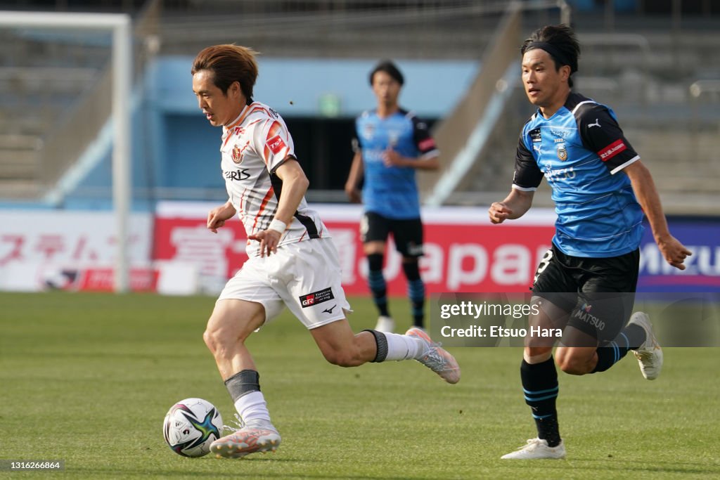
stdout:
<svg viewBox="0 0 720 480">
<path fill-rule="evenodd" d="M 640 157 L 615 113 L 580 94 L 545 119 L 538 110 L 523 127 L 513 189 L 552 187 L 557 222 L 552 242 L 576 257 L 606 258 L 640 245 L 642 209 L 623 168 Z"/>
</svg>

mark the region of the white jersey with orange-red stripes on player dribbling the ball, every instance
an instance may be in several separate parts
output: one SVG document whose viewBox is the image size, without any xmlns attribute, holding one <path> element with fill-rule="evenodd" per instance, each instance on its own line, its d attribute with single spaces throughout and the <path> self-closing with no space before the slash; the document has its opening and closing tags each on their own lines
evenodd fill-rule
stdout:
<svg viewBox="0 0 720 480">
<path fill-rule="evenodd" d="M 246 234 L 266 230 L 282 192 L 282 180 L 275 171 L 287 158 L 296 158 L 284 120 L 267 105 L 254 101 L 229 127 L 222 127 L 220 152 L 225 188 Z M 330 234 L 303 197 L 278 246 L 320 237 Z M 259 255 L 259 247 L 257 240 L 248 240 L 248 256 Z"/>
</svg>

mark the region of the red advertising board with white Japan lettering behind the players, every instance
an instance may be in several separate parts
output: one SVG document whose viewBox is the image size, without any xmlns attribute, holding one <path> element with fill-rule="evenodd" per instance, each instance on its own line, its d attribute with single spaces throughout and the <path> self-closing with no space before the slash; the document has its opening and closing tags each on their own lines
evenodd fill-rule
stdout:
<svg viewBox="0 0 720 480">
<path fill-rule="evenodd" d="M 228 279 L 246 261 L 246 235 L 239 221 L 213 234 L 205 227 L 204 203 L 167 202 L 158 207 L 153 258 L 192 263 L 205 278 Z M 361 208 L 314 205 L 330 230 L 348 294 L 366 294 L 366 261 L 359 237 Z M 535 268 L 549 248 L 554 214 L 539 209 L 527 219 L 491 225 L 480 208 L 428 210 L 425 255 L 420 270 L 428 292 L 528 291 Z M 392 245 L 385 276 L 391 295 L 405 295 L 400 255 Z"/>
</svg>

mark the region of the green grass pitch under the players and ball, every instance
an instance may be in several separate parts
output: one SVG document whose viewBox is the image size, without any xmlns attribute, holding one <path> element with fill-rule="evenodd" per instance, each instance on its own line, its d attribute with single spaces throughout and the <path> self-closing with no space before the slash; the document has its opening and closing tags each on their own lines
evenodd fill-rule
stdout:
<svg viewBox="0 0 720 480">
<path fill-rule="evenodd" d="M 518 348 L 453 348 L 448 385 L 414 361 L 326 363 L 289 313 L 248 340 L 283 436 L 277 453 L 183 458 L 164 443 L 174 402 L 233 405 L 202 342 L 210 297 L 0 294 L 0 459 L 65 470 L 0 478 L 495 479 L 720 476 L 719 348 L 667 348 L 657 381 L 634 358 L 561 373 L 563 461 L 501 461 L 534 436 Z M 351 299 L 356 331 L 374 325 Z M 397 318 L 408 312 L 394 299 Z M 407 324 L 405 325 L 407 326 Z"/>
</svg>

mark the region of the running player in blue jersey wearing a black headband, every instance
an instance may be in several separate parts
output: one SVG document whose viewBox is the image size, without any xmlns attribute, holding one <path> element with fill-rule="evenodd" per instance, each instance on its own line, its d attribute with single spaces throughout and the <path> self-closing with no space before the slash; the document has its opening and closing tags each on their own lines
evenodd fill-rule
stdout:
<svg viewBox="0 0 720 480">
<path fill-rule="evenodd" d="M 571 91 L 580 45 L 570 27 L 537 30 L 521 53 L 523 85 L 539 108 L 520 135 L 513 188 L 488 213 L 495 224 L 522 217 L 547 179 L 556 230 L 536 271 L 531 302 L 539 314 L 529 322 L 563 333 L 554 361 L 557 339 L 525 340 L 521 382 L 538 436 L 502 458 L 564 458 L 554 363 L 584 375 L 606 371 L 632 350 L 646 379 L 660 374 L 662 350 L 647 314 L 630 317 L 643 214 L 667 263 L 684 270 L 691 253 L 670 235 L 652 176 L 613 111 Z"/>
</svg>

